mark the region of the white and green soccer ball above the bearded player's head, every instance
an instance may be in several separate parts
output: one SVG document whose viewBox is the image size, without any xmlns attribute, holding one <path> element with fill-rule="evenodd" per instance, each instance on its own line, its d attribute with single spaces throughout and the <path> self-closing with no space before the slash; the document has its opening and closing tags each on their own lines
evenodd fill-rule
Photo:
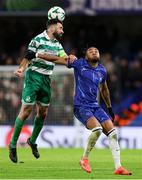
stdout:
<svg viewBox="0 0 142 180">
<path fill-rule="evenodd" d="M 48 11 L 48 19 L 58 19 L 63 21 L 65 19 L 65 11 L 59 6 L 54 6 Z"/>
</svg>

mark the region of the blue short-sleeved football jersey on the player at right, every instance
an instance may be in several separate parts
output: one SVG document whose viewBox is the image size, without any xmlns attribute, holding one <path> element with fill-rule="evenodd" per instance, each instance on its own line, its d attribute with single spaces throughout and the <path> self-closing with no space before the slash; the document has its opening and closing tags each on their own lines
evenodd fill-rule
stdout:
<svg viewBox="0 0 142 180">
<path fill-rule="evenodd" d="M 73 63 L 68 62 L 68 67 L 74 68 L 74 106 L 98 106 L 99 85 L 104 83 L 107 77 L 105 67 L 100 63 L 97 67 L 92 67 L 84 58 L 75 60 Z"/>
</svg>

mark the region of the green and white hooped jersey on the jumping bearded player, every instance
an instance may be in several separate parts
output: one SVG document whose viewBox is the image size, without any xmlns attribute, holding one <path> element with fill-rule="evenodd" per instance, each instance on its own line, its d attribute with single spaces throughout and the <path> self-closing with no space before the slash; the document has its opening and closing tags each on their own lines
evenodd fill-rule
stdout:
<svg viewBox="0 0 142 180">
<path fill-rule="evenodd" d="M 56 39 L 50 39 L 46 30 L 31 40 L 28 49 L 34 51 L 35 53 L 47 53 L 59 57 L 66 55 L 59 41 Z M 33 71 L 37 71 L 41 74 L 51 75 L 53 73 L 54 66 L 55 63 L 45 61 L 40 58 L 34 58 L 31 60 L 28 69 L 32 69 Z"/>
</svg>

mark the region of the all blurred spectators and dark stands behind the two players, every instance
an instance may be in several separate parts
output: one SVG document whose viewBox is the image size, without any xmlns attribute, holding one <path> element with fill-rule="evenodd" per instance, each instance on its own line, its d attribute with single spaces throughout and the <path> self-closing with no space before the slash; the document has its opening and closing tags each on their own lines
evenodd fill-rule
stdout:
<svg viewBox="0 0 142 180">
<path fill-rule="evenodd" d="M 45 21 L 33 18 L 0 19 L 0 65 L 18 65 L 32 37 L 45 29 Z M 76 28 L 72 28 L 71 24 Z M 82 56 L 84 48 L 96 46 L 101 53 L 101 63 L 108 71 L 108 85 L 113 104 L 119 104 L 123 97 L 142 87 L 142 48 L 139 36 L 133 39 L 118 32 L 114 24 L 106 26 L 88 21 L 87 25 L 73 19 L 65 24 L 63 47 L 67 54 Z M 68 27 L 71 28 L 68 28 Z M 72 82 L 72 83 L 70 83 Z M 13 124 L 21 104 L 22 80 L 12 72 L 0 71 L 0 124 Z M 17 88 L 18 87 L 18 88 Z M 73 75 L 63 74 L 52 80 L 52 102 L 48 123 L 73 124 Z M 30 117 L 33 119 L 34 112 Z"/>
</svg>

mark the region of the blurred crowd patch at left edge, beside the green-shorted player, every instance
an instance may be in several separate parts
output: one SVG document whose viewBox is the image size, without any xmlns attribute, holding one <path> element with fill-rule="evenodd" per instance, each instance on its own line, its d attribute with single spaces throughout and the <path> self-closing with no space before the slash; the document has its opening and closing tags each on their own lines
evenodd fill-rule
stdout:
<svg viewBox="0 0 142 180">
<path fill-rule="evenodd" d="M 22 79 L 14 77 L 13 71 L 4 71 L 0 84 L 0 124 L 13 123 L 21 105 Z"/>
</svg>

